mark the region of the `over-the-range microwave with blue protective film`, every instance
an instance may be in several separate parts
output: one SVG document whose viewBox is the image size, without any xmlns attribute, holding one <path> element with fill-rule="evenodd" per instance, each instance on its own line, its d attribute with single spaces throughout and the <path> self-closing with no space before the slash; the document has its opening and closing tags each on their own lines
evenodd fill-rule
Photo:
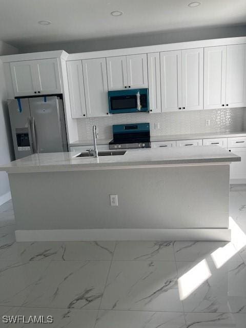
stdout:
<svg viewBox="0 0 246 328">
<path fill-rule="evenodd" d="M 109 91 L 109 112 L 139 113 L 149 112 L 149 89 Z"/>
</svg>

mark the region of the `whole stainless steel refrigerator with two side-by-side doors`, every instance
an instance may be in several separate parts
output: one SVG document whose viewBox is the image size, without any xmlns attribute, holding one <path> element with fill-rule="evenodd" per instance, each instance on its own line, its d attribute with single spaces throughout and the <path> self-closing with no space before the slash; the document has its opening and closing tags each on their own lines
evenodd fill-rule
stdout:
<svg viewBox="0 0 246 328">
<path fill-rule="evenodd" d="M 63 99 L 18 98 L 8 103 L 15 158 L 68 151 Z"/>
</svg>

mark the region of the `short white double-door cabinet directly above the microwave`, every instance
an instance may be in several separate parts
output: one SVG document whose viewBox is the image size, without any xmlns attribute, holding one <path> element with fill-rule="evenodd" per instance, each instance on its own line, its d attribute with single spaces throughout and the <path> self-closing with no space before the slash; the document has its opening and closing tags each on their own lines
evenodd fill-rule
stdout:
<svg viewBox="0 0 246 328">
<path fill-rule="evenodd" d="M 147 54 L 107 57 L 109 90 L 148 88 Z"/>
</svg>

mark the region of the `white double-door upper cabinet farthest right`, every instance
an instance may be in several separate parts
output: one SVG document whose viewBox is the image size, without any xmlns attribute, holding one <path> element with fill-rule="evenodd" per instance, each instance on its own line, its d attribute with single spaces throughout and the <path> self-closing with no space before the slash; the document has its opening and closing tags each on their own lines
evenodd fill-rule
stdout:
<svg viewBox="0 0 246 328">
<path fill-rule="evenodd" d="M 204 109 L 246 106 L 246 45 L 204 48 Z"/>
</svg>

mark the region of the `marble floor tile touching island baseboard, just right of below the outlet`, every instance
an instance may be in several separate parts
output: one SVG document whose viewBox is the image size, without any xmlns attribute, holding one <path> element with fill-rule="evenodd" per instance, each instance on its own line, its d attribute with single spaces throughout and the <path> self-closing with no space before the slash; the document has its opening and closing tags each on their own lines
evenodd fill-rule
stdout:
<svg viewBox="0 0 246 328">
<path fill-rule="evenodd" d="M 172 241 L 117 241 L 113 260 L 175 261 Z"/>
</svg>

